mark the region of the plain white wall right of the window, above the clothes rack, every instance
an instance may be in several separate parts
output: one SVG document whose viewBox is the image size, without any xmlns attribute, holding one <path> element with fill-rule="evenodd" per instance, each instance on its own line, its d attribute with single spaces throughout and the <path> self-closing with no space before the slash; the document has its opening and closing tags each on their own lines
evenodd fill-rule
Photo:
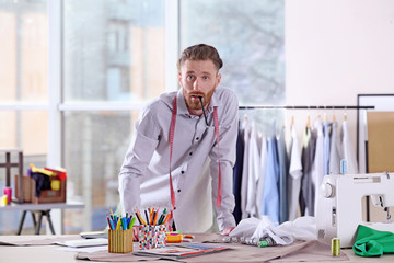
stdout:
<svg viewBox="0 0 394 263">
<path fill-rule="evenodd" d="M 393 64 L 394 1 L 286 1 L 288 105 L 357 105 L 358 94 L 394 93 Z M 294 114 L 300 138 L 306 112 Z M 343 114 L 310 111 L 324 113 Z M 356 148 L 356 111 L 347 115 Z"/>
</svg>

